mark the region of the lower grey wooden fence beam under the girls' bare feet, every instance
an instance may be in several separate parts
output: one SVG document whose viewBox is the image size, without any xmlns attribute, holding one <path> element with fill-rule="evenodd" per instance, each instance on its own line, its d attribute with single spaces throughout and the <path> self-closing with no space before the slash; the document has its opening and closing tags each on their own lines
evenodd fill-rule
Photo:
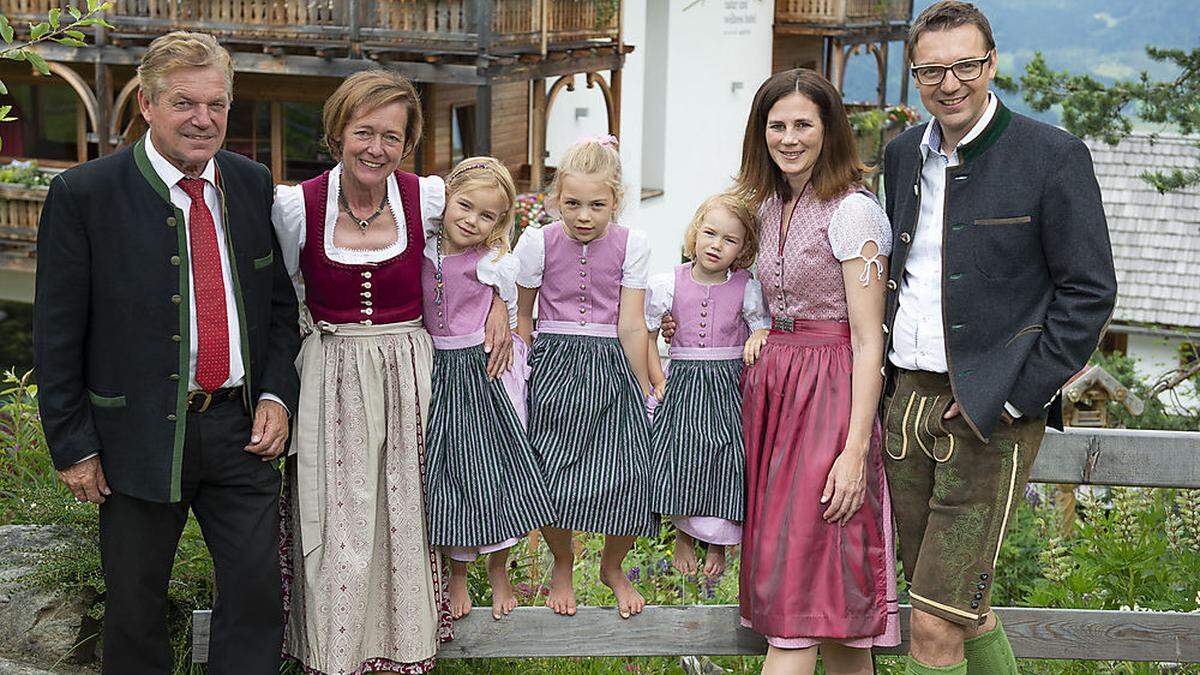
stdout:
<svg viewBox="0 0 1200 675">
<path fill-rule="evenodd" d="M 899 647 L 906 653 L 911 608 L 900 608 Z M 1088 609 L 997 608 L 1019 658 L 1200 663 L 1200 614 Z M 192 658 L 208 658 L 209 613 L 192 617 Z M 611 607 L 581 607 L 574 617 L 520 607 L 496 621 L 476 607 L 455 622 L 438 658 L 762 655 L 761 635 L 738 625 L 736 605 L 650 605 L 620 619 Z"/>
</svg>

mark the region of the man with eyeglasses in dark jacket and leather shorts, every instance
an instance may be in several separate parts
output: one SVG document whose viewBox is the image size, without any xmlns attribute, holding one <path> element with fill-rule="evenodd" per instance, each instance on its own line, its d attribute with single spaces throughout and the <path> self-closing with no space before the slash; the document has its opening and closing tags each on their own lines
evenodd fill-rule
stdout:
<svg viewBox="0 0 1200 675">
<path fill-rule="evenodd" d="M 908 34 L 932 114 L 884 153 L 886 467 L 913 613 L 907 673 L 1015 674 L 991 585 L 1058 388 L 1116 298 L 1086 145 L 989 91 L 996 43 L 943 0 Z"/>
</svg>

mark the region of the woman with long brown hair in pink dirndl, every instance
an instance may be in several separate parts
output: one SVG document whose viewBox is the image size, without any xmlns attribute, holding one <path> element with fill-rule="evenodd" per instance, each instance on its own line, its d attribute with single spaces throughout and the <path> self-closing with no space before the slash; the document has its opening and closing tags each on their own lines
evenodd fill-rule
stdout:
<svg viewBox="0 0 1200 675">
<path fill-rule="evenodd" d="M 740 610 L 767 637 L 763 673 L 812 673 L 820 650 L 826 673 L 869 674 L 871 647 L 900 643 L 877 416 L 892 228 L 864 172 L 833 85 L 763 83 L 738 174 L 772 315 L 742 376 Z"/>
</svg>

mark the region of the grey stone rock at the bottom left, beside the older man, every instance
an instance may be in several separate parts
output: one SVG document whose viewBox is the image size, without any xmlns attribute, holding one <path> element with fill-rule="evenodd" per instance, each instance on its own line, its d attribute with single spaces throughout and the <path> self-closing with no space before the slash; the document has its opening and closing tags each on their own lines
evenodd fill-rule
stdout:
<svg viewBox="0 0 1200 675">
<path fill-rule="evenodd" d="M 88 616 L 96 602 L 92 592 L 61 591 L 16 581 L 34 571 L 28 551 L 54 546 L 64 537 L 58 527 L 40 525 L 0 526 L 0 657 L 60 673 L 83 673 L 96 662 L 100 625 Z M 73 543 L 74 544 L 74 543 Z M 40 674 L 42 670 L 5 670 L 0 675 Z M 17 668 L 17 667 L 13 667 Z M 62 670 L 70 668 L 70 670 Z"/>
</svg>

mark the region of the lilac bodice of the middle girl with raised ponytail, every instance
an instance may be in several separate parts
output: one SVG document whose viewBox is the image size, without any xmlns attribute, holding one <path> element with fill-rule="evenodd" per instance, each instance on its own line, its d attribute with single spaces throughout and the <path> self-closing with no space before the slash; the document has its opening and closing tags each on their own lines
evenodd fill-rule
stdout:
<svg viewBox="0 0 1200 675">
<path fill-rule="evenodd" d="M 560 222 L 542 231 L 546 253 L 538 329 L 563 333 L 577 325 L 575 331 L 590 333 L 612 327 L 610 333 L 616 335 L 629 231 L 611 223 L 604 235 L 587 244 L 568 237 Z"/>
</svg>

